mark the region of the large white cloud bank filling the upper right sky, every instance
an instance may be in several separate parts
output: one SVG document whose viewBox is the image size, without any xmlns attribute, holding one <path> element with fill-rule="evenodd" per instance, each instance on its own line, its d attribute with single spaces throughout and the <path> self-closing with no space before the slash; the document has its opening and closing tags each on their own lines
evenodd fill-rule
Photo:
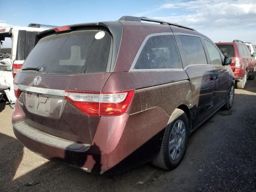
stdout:
<svg viewBox="0 0 256 192">
<path fill-rule="evenodd" d="M 166 10 L 170 10 L 170 13 L 166 16 L 157 16 L 160 12 L 166 14 Z M 173 10 L 180 10 L 183 14 L 173 15 Z M 242 39 L 247 35 L 247 39 L 256 42 L 255 0 L 174 2 L 162 4 L 145 13 L 153 15 L 154 19 L 190 26 L 215 41 L 230 41 L 234 37 Z M 216 37 L 217 35 L 219 37 Z"/>
</svg>

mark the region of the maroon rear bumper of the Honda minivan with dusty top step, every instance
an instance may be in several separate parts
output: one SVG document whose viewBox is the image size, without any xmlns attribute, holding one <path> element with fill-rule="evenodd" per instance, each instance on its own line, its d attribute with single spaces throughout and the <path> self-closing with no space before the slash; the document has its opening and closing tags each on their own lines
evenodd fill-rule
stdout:
<svg viewBox="0 0 256 192">
<path fill-rule="evenodd" d="M 92 143 L 84 145 L 63 141 L 32 127 L 22 128 L 22 115 L 16 102 L 13 130 L 24 146 L 47 159 L 61 160 L 70 166 L 100 174 L 121 172 L 152 160 L 160 150 L 169 120 L 161 108 L 133 115 L 101 117 Z M 64 144 L 61 146 L 61 143 Z M 74 145 L 81 147 L 74 148 Z"/>
</svg>

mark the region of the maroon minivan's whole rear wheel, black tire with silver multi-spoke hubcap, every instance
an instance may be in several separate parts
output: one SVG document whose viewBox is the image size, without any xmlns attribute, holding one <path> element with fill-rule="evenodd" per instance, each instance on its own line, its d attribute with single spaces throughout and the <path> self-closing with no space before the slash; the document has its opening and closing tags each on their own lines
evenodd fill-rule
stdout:
<svg viewBox="0 0 256 192">
<path fill-rule="evenodd" d="M 176 168 L 184 157 L 188 144 L 188 134 L 189 125 L 185 112 L 180 109 L 174 110 L 164 132 L 160 152 L 152 164 L 165 170 Z M 169 150 L 169 147 L 172 149 Z"/>
</svg>

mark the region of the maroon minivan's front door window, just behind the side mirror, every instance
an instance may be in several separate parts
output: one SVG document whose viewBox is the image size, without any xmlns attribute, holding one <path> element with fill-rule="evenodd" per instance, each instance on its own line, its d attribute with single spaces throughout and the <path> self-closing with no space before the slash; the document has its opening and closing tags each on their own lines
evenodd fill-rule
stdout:
<svg viewBox="0 0 256 192">
<path fill-rule="evenodd" d="M 222 59 L 218 49 L 208 40 L 204 40 L 212 65 L 222 65 Z"/>
</svg>

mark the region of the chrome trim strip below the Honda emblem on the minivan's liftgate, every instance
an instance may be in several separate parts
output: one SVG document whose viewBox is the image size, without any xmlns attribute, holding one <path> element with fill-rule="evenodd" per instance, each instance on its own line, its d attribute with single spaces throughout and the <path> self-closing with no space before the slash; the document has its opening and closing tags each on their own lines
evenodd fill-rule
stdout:
<svg viewBox="0 0 256 192">
<path fill-rule="evenodd" d="M 40 88 L 40 87 L 32 87 L 26 85 L 18 85 L 19 89 L 25 92 L 32 92 L 38 94 L 46 94 L 46 95 L 55 95 L 55 96 L 64 96 L 65 90 L 58 89 L 48 89 L 48 88 Z"/>
</svg>

